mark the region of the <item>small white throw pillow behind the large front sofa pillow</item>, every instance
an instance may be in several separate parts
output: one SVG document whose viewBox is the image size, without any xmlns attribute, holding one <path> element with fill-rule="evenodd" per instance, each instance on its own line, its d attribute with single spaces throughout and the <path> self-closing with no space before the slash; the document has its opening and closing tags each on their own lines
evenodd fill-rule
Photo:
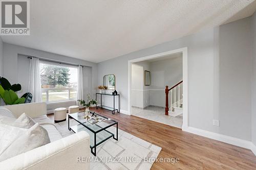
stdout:
<svg viewBox="0 0 256 170">
<path fill-rule="evenodd" d="M 34 125 L 35 125 L 34 120 L 25 113 L 20 115 L 15 120 L 15 122 L 12 124 L 12 126 L 19 127 L 19 128 L 25 128 L 25 129 L 29 129 Z"/>
</svg>

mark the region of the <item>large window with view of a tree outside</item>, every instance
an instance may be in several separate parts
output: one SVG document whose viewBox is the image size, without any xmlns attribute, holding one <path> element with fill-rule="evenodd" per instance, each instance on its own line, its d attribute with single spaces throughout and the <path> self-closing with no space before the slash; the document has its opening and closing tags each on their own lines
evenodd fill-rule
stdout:
<svg viewBox="0 0 256 170">
<path fill-rule="evenodd" d="M 40 62 L 42 101 L 76 100 L 77 67 Z"/>
</svg>

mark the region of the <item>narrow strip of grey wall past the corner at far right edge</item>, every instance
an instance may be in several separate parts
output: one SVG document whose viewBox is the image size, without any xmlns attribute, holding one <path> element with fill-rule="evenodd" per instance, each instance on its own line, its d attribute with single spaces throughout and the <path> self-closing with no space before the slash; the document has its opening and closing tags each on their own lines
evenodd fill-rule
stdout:
<svg viewBox="0 0 256 170">
<path fill-rule="evenodd" d="M 256 13 L 252 16 L 251 141 L 256 145 Z"/>
</svg>

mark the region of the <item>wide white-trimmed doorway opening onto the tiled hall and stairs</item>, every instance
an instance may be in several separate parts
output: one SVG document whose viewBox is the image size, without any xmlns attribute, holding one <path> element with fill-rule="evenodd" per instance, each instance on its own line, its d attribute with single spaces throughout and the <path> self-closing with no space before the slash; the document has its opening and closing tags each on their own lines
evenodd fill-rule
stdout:
<svg viewBox="0 0 256 170">
<path fill-rule="evenodd" d="M 128 64 L 129 114 L 187 127 L 187 48 L 130 60 Z M 167 97 L 165 86 L 172 88 L 167 90 Z"/>
</svg>

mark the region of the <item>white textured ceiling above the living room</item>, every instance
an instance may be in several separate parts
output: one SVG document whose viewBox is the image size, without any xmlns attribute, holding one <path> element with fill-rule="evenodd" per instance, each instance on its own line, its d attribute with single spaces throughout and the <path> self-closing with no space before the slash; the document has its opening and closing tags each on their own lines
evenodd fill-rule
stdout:
<svg viewBox="0 0 256 170">
<path fill-rule="evenodd" d="M 2 36 L 2 39 L 101 62 L 250 16 L 254 6 L 249 12 L 240 11 L 252 2 L 33 0 L 30 36 Z"/>
</svg>

